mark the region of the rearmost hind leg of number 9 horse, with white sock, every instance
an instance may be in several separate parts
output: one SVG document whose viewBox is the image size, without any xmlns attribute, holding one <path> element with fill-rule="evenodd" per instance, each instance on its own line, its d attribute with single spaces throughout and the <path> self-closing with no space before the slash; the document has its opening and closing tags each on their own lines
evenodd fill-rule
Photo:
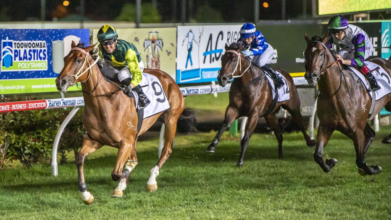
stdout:
<svg viewBox="0 0 391 220">
<path fill-rule="evenodd" d="M 158 189 L 158 182 L 156 182 L 156 177 L 159 175 L 160 168 L 169 159 L 172 153 L 172 142 L 174 141 L 175 137 L 177 121 L 178 116 L 175 117 L 171 110 L 165 113 L 163 149 L 161 150 L 161 155 L 158 163 L 151 169 L 151 175 L 147 182 L 147 191 L 150 193 Z"/>
</svg>

